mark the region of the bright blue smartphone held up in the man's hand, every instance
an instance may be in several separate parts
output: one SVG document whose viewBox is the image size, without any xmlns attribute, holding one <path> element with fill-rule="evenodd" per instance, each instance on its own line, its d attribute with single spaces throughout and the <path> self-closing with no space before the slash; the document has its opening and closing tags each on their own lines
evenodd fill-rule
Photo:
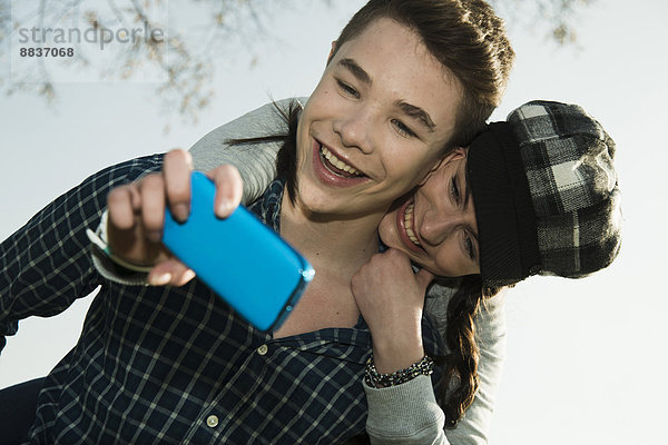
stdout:
<svg viewBox="0 0 668 445">
<path fill-rule="evenodd" d="M 246 320 L 275 330 L 315 274 L 308 261 L 255 215 L 239 206 L 228 218 L 214 214 L 214 182 L 191 175 L 190 215 L 165 216 L 163 243 Z"/>
</svg>

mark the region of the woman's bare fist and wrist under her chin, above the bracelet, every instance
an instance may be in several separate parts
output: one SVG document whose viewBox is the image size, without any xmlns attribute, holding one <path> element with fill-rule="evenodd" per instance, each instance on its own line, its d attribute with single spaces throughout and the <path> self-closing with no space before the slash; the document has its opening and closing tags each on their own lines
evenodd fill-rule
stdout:
<svg viewBox="0 0 668 445">
<path fill-rule="evenodd" d="M 414 274 L 396 249 L 374 255 L 353 275 L 351 288 L 371 330 L 379 373 L 404 369 L 424 357 L 422 309 L 433 278 L 424 269 Z"/>
</svg>

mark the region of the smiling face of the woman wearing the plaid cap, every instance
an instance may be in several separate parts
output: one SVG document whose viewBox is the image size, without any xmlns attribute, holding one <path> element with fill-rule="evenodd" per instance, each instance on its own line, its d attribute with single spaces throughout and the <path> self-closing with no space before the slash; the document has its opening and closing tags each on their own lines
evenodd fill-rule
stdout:
<svg viewBox="0 0 668 445">
<path fill-rule="evenodd" d="M 480 274 L 478 221 L 466 181 L 466 149 L 458 148 L 415 194 L 393 206 L 379 227 L 383 243 L 445 277 Z"/>
</svg>

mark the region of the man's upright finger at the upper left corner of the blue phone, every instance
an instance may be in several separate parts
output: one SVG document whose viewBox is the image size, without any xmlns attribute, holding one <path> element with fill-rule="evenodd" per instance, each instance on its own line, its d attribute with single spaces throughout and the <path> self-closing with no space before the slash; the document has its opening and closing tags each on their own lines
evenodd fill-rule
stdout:
<svg viewBox="0 0 668 445">
<path fill-rule="evenodd" d="M 163 174 L 167 202 L 174 217 L 184 222 L 190 214 L 190 171 L 193 157 L 185 150 L 171 150 L 165 155 Z"/>
</svg>

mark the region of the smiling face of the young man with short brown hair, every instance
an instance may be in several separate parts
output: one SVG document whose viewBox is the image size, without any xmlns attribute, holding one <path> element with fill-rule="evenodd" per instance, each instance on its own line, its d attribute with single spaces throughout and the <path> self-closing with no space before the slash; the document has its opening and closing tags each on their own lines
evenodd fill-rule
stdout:
<svg viewBox="0 0 668 445">
<path fill-rule="evenodd" d="M 297 202 L 310 212 L 376 215 L 420 182 L 453 135 L 459 80 L 390 19 L 343 43 L 297 130 Z"/>
</svg>

